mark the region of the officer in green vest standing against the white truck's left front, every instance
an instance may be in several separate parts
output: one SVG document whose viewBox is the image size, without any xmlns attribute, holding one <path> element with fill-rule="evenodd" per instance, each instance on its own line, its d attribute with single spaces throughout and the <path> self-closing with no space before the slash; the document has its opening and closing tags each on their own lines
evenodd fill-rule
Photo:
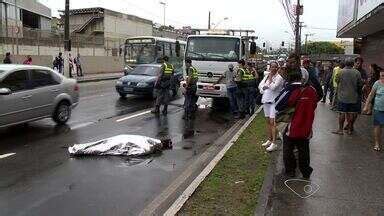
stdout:
<svg viewBox="0 0 384 216">
<path fill-rule="evenodd" d="M 198 96 L 197 91 L 197 80 L 198 73 L 195 67 L 192 66 L 191 59 L 185 59 L 185 67 L 187 73 L 186 92 L 185 92 L 185 114 L 184 119 L 188 120 L 194 117 L 196 102 Z"/>
</svg>

